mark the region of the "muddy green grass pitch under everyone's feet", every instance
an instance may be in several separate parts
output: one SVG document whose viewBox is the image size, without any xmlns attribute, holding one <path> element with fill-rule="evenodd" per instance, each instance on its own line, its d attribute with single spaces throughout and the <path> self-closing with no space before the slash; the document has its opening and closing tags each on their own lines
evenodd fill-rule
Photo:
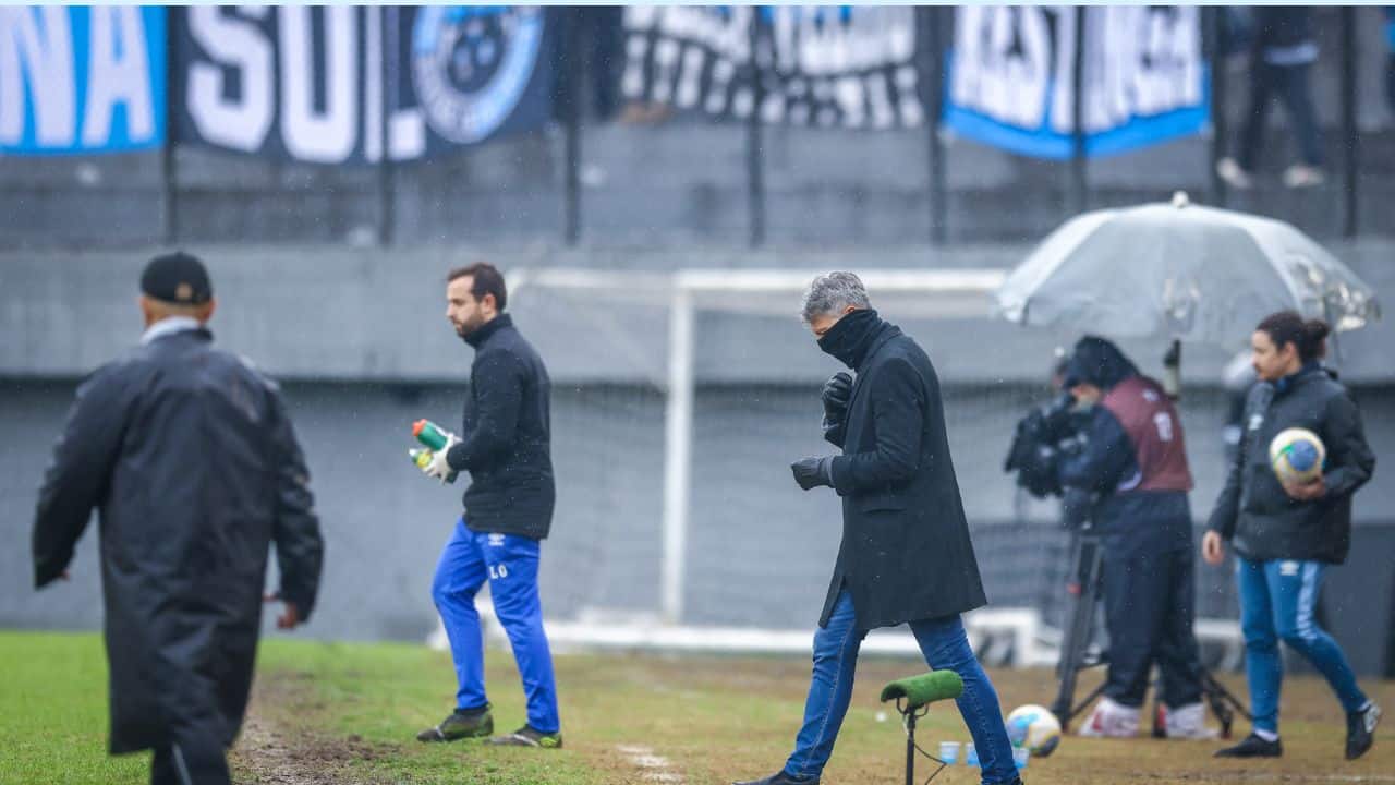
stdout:
<svg viewBox="0 0 1395 785">
<path fill-rule="evenodd" d="M 506 651 L 487 655 L 497 731 L 523 722 L 523 696 Z M 824 782 L 893 785 L 903 781 L 905 738 L 879 717 L 880 686 L 917 672 L 907 661 L 859 665 L 852 708 Z M 453 704 L 449 656 L 416 645 L 317 644 L 287 638 L 262 647 L 255 722 L 233 756 L 237 782 L 393 782 L 488 785 L 642 784 L 624 746 L 664 756 L 693 785 L 774 771 L 790 751 L 802 715 L 809 663 L 787 658 L 557 658 L 566 749 L 485 747 L 478 742 L 420 744 L 414 733 Z M 148 756 L 105 756 L 106 691 L 100 643 L 92 636 L 0 633 L 0 784 L 145 781 Z M 1048 703 L 1045 670 L 995 672 L 1004 707 Z M 1243 683 L 1226 677 L 1243 694 Z M 1388 708 L 1395 684 L 1363 680 Z M 1091 684 L 1087 682 L 1083 689 Z M 1380 731 L 1363 760 L 1342 760 L 1343 726 L 1327 686 L 1290 677 L 1283 694 L 1285 757 L 1216 761 L 1215 742 L 1106 742 L 1070 738 L 1032 761 L 1032 785 L 1081 782 L 1283 781 L 1395 782 L 1395 722 Z M 1239 732 L 1246 732 L 1242 724 Z M 926 747 L 967 742 L 953 705 L 921 725 Z M 18 739 L 18 743 L 11 743 Z M 269 743 L 268 743 L 269 740 Z M 279 756 L 279 757 L 278 757 Z M 278 768 L 280 767 L 280 768 Z M 290 774 L 287 775 L 289 767 Z M 296 779 L 296 772 L 314 777 Z M 61 774 L 59 774 L 61 772 Z M 919 777 L 929 774 L 921 767 Z M 937 785 L 971 785 L 976 770 L 956 767 Z"/>
</svg>

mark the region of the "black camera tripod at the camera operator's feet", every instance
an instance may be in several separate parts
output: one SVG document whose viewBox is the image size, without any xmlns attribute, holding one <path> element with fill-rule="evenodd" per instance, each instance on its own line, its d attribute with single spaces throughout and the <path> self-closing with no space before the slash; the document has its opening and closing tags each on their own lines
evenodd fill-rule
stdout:
<svg viewBox="0 0 1395 785">
<path fill-rule="evenodd" d="M 1080 529 L 1071 532 L 1070 536 L 1070 550 L 1073 555 L 1073 571 L 1070 580 L 1073 582 L 1069 584 L 1067 589 L 1071 595 L 1071 605 L 1066 620 L 1066 629 L 1062 636 L 1060 662 L 1056 665 L 1056 676 L 1060 679 L 1060 690 L 1056 693 L 1056 701 L 1052 703 L 1050 707 L 1052 714 L 1055 714 L 1056 719 L 1060 721 L 1062 731 L 1066 731 L 1070 726 L 1070 721 L 1078 717 L 1080 712 L 1089 707 L 1089 704 L 1105 691 L 1105 684 L 1101 683 L 1078 704 L 1074 703 L 1076 682 L 1080 677 L 1080 672 L 1087 668 L 1095 668 L 1109 662 L 1109 654 L 1106 651 L 1089 651 L 1089 644 L 1094 638 L 1095 608 L 1099 603 L 1103 542 L 1099 532 L 1091 528 L 1088 522 Z M 1250 711 L 1243 703 L 1240 703 L 1240 698 L 1235 697 L 1235 694 L 1226 690 L 1223 684 L 1216 682 L 1208 669 L 1201 668 L 1198 677 L 1201 682 L 1202 700 L 1205 700 L 1207 705 L 1211 708 L 1211 714 L 1214 714 L 1216 721 L 1221 724 L 1221 738 L 1230 738 L 1230 726 L 1235 722 L 1236 712 L 1246 719 L 1253 719 Z M 1161 739 L 1166 736 L 1166 728 L 1162 721 L 1162 701 L 1159 696 L 1161 690 L 1155 686 L 1152 735 Z"/>
</svg>

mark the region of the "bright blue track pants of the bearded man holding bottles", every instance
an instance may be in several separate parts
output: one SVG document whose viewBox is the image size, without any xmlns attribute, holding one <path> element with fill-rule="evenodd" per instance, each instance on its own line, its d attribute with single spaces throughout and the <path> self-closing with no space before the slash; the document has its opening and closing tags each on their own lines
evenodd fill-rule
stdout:
<svg viewBox="0 0 1395 785">
<path fill-rule="evenodd" d="M 557 682 L 552 652 L 543 631 L 543 603 L 537 596 L 537 560 L 541 543 L 533 538 L 472 532 L 465 518 L 455 524 L 451 541 L 441 552 L 431 598 L 445 634 L 459 690 L 456 708 L 480 708 L 490 703 L 484 693 L 484 637 L 474 594 L 490 581 L 494 612 L 513 645 L 513 658 L 527 696 L 527 724 L 544 733 L 561 729 L 557 714 Z"/>
</svg>

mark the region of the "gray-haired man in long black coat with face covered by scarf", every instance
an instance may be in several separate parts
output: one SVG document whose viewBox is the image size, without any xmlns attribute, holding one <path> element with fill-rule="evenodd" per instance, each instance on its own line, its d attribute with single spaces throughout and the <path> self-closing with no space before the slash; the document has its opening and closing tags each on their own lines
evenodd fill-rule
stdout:
<svg viewBox="0 0 1395 785">
<path fill-rule="evenodd" d="M 795 482 L 843 497 L 843 545 L 813 634 L 804 726 L 784 768 L 745 785 L 819 782 L 852 697 L 868 630 L 910 623 L 925 661 L 964 679 L 958 710 L 985 784 L 1020 782 L 997 693 L 964 636 L 960 613 L 988 601 L 970 542 L 929 358 L 877 317 L 851 272 L 815 278 L 804 321 L 854 373 L 824 386 L 823 434 L 841 455 L 795 461 Z"/>
</svg>

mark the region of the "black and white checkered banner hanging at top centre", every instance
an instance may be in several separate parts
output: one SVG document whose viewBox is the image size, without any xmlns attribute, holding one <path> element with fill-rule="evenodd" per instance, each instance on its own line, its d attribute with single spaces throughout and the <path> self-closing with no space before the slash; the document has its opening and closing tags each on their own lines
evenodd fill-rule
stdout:
<svg viewBox="0 0 1395 785">
<path fill-rule="evenodd" d="M 908 6 L 632 6 L 625 52 L 621 89 L 629 101 L 819 127 L 925 122 Z"/>
</svg>

